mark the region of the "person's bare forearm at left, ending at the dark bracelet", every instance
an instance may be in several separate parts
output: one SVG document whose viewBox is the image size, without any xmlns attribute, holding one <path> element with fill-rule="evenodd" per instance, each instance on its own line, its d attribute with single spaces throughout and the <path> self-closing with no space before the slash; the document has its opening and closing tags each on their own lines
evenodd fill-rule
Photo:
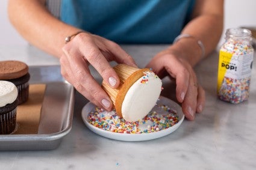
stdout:
<svg viewBox="0 0 256 170">
<path fill-rule="evenodd" d="M 10 0 L 8 14 L 22 37 L 57 57 L 62 53 L 64 38 L 78 31 L 52 16 L 45 7 L 45 0 Z"/>
</svg>

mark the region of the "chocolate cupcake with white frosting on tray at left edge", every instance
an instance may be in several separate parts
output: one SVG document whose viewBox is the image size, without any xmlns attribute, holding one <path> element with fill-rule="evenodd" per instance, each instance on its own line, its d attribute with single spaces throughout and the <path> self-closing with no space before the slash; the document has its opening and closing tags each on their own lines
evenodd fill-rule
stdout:
<svg viewBox="0 0 256 170">
<path fill-rule="evenodd" d="M 7 135 L 16 127 L 17 87 L 0 80 L 0 135 Z"/>
</svg>

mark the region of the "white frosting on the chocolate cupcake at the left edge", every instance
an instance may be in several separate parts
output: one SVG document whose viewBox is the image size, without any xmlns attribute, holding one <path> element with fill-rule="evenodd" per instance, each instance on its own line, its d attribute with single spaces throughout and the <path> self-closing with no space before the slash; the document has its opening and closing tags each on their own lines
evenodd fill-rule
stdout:
<svg viewBox="0 0 256 170">
<path fill-rule="evenodd" d="M 0 80 L 0 107 L 13 103 L 17 95 L 18 91 L 14 83 Z"/>
</svg>

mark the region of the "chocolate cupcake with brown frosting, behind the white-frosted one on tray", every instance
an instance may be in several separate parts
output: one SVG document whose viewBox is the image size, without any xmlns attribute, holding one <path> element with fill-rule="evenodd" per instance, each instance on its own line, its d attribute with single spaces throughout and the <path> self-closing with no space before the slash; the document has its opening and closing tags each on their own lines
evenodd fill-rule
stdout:
<svg viewBox="0 0 256 170">
<path fill-rule="evenodd" d="M 20 61 L 0 61 L 0 80 L 7 80 L 16 85 L 18 105 L 27 102 L 30 80 L 27 64 Z"/>
</svg>

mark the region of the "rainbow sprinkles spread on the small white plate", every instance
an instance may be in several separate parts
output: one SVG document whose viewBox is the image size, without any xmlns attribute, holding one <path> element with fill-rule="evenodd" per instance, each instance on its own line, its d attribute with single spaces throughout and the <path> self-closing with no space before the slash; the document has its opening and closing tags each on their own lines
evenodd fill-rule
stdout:
<svg viewBox="0 0 256 170">
<path fill-rule="evenodd" d="M 136 122 L 125 121 L 115 111 L 107 112 L 98 107 L 88 114 L 87 120 L 90 124 L 102 130 L 131 134 L 158 132 L 178 123 L 179 119 L 176 111 L 166 105 L 155 107 L 161 114 L 152 111 L 145 118 Z"/>
</svg>

